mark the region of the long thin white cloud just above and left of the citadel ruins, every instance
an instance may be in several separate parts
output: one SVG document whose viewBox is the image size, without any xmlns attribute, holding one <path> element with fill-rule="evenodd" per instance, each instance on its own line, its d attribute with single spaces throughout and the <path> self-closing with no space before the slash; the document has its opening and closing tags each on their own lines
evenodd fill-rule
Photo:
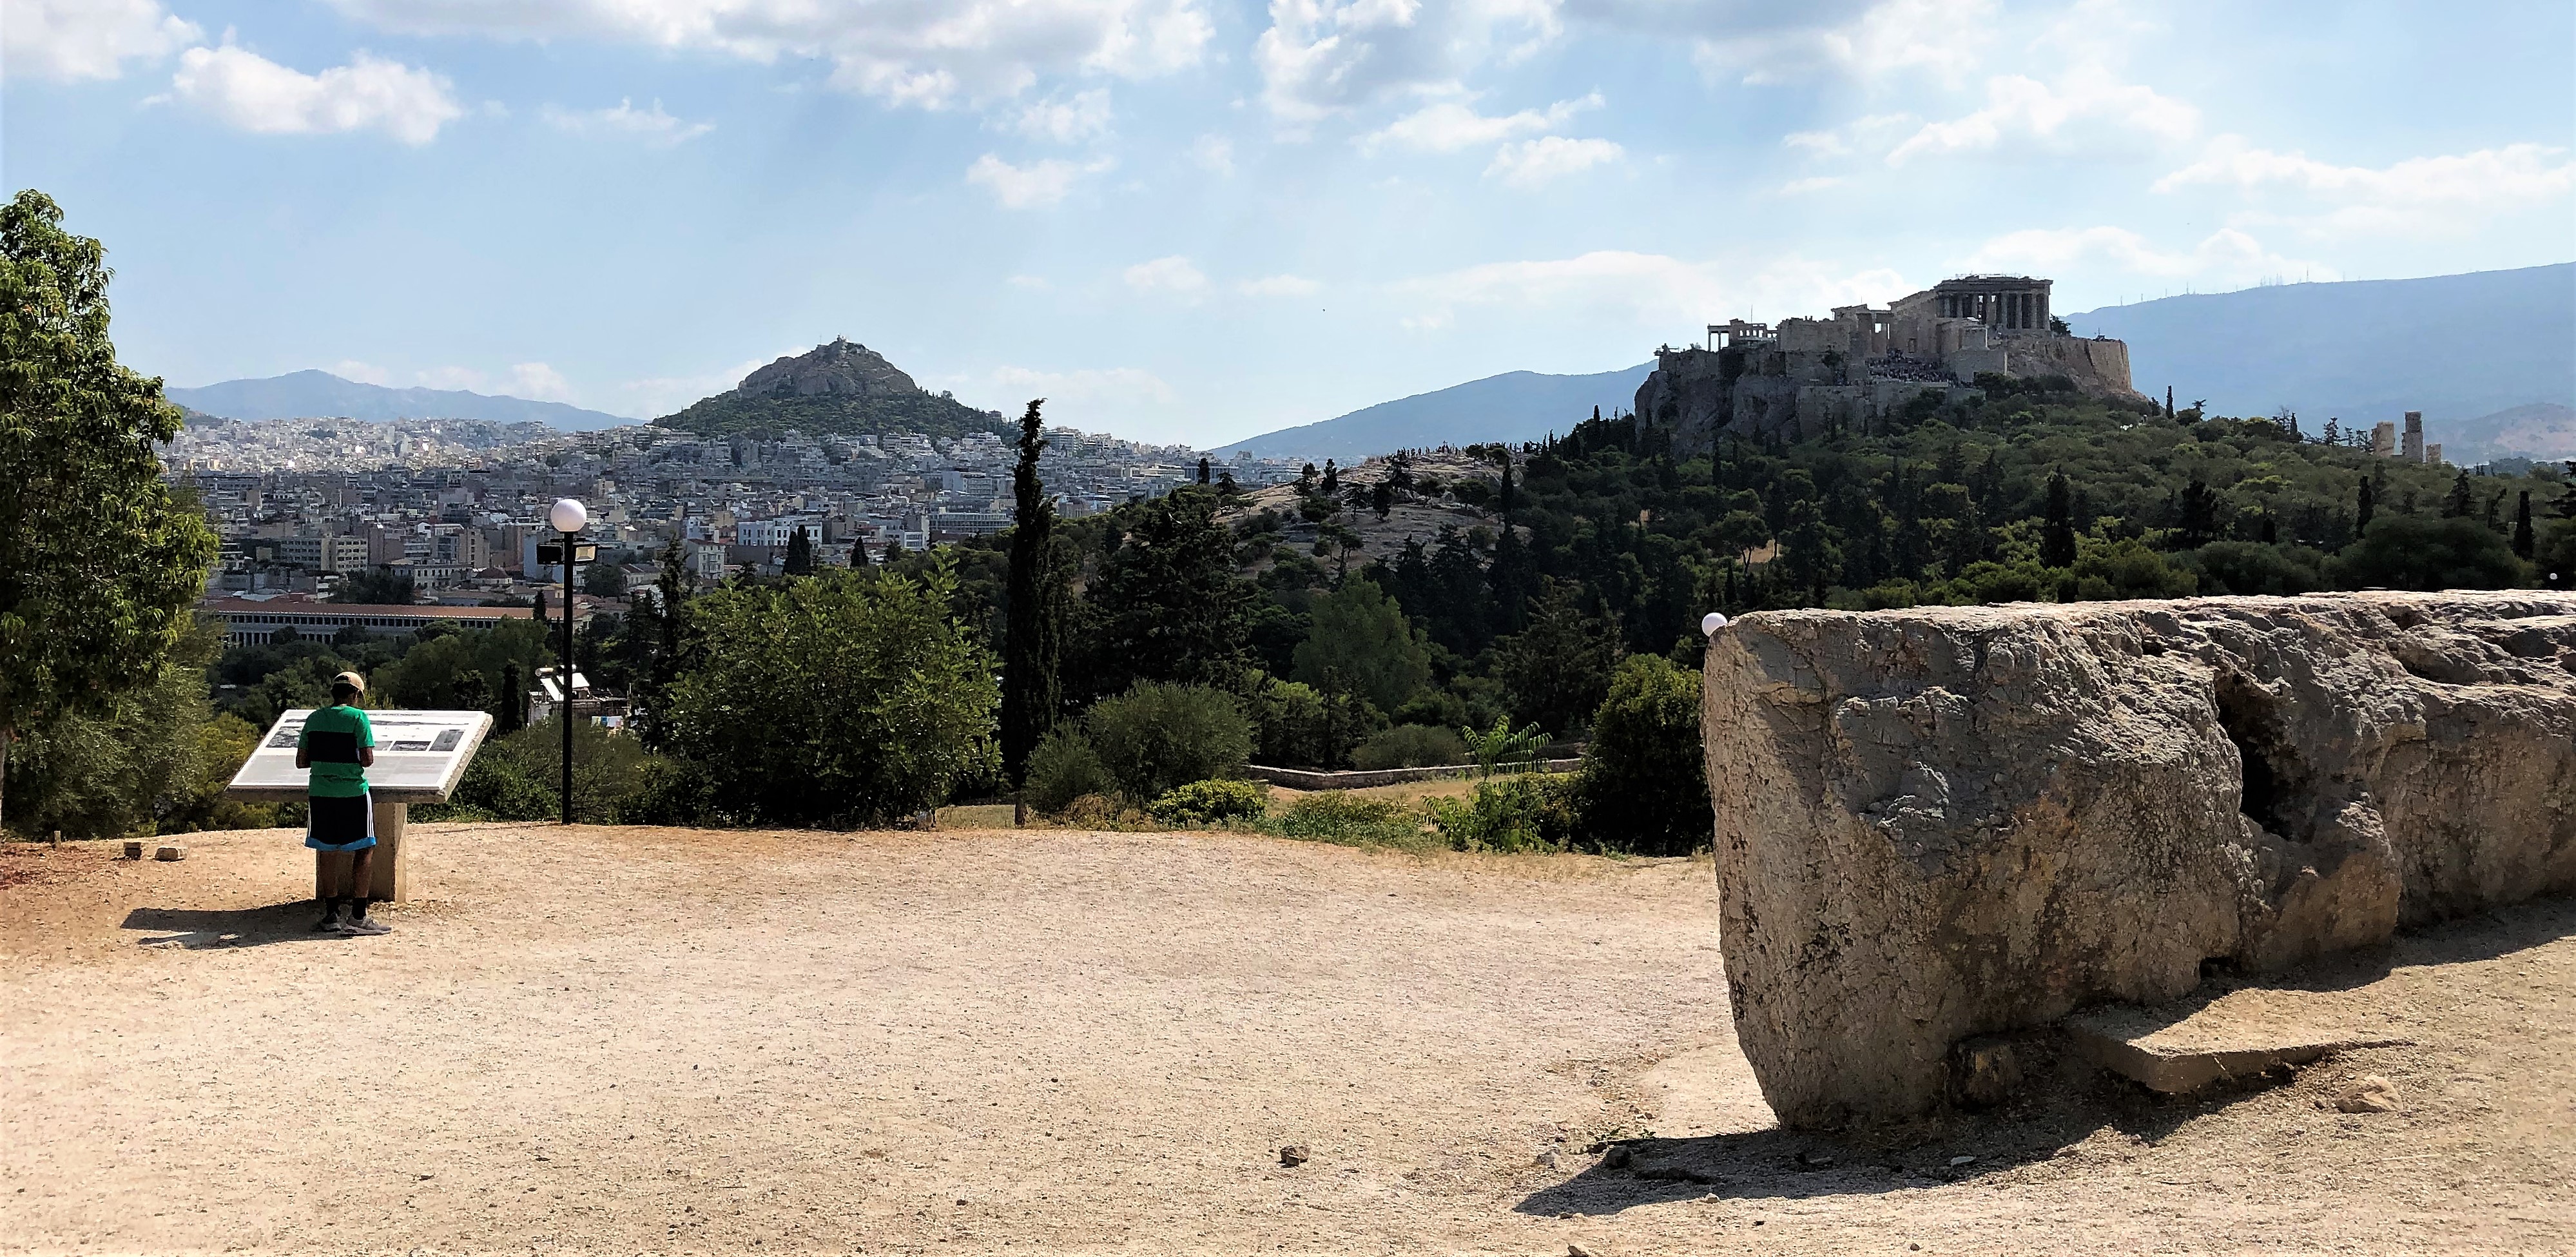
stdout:
<svg viewBox="0 0 2576 1257">
<path fill-rule="evenodd" d="M 1409 278 L 1388 294 L 1414 312 L 1406 327 L 1448 327 L 1458 309 L 1548 312 L 1558 319 L 1618 319 L 1638 327 L 1698 332 L 1728 317 L 1824 314 L 1857 301 L 1911 291 L 1896 270 L 1839 270 L 1806 258 L 1772 258 L 1759 268 L 1687 263 L 1659 252 L 1584 252 L 1530 263 L 1484 263 Z"/>
</svg>

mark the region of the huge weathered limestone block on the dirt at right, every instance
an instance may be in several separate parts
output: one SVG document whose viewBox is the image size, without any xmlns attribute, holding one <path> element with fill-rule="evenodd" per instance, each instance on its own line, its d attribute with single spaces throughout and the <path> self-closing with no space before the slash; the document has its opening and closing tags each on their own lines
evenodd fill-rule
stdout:
<svg viewBox="0 0 2576 1257">
<path fill-rule="evenodd" d="M 2576 595 L 1780 610 L 1708 652 L 1736 1038 L 1783 1123 L 1960 1038 L 2576 891 Z"/>
</svg>

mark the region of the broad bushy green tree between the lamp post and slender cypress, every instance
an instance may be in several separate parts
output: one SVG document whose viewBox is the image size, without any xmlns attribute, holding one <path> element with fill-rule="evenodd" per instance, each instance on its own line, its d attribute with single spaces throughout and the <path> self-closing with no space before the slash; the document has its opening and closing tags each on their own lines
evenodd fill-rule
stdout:
<svg viewBox="0 0 2576 1257">
<path fill-rule="evenodd" d="M 999 659 L 956 621 L 953 582 L 822 572 L 698 598 L 670 747 L 768 824 L 884 822 L 992 780 Z"/>
</svg>

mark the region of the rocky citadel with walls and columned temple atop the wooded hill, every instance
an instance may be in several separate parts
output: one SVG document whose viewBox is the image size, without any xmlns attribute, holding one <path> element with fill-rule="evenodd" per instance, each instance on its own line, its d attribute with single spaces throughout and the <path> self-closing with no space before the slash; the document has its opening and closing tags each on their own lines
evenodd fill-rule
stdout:
<svg viewBox="0 0 2576 1257">
<path fill-rule="evenodd" d="M 1682 451 L 1747 438 L 1870 430 L 1924 394 L 1976 397 L 1978 376 L 2058 379 L 2092 397 L 2141 399 L 2128 345 L 2076 337 L 2048 307 L 2053 281 L 1960 276 L 1888 307 L 1824 319 L 1708 325 L 1708 343 L 1656 350 L 1636 412 Z"/>
</svg>

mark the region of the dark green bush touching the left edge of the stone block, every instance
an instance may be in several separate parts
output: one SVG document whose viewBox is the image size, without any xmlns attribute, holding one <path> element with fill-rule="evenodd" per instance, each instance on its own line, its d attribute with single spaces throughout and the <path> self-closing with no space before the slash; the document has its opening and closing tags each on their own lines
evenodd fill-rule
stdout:
<svg viewBox="0 0 2576 1257">
<path fill-rule="evenodd" d="M 1638 855 L 1705 847 L 1716 819 L 1700 760 L 1700 675 L 1631 654 L 1592 714 L 1574 791 L 1584 840 Z"/>
</svg>

